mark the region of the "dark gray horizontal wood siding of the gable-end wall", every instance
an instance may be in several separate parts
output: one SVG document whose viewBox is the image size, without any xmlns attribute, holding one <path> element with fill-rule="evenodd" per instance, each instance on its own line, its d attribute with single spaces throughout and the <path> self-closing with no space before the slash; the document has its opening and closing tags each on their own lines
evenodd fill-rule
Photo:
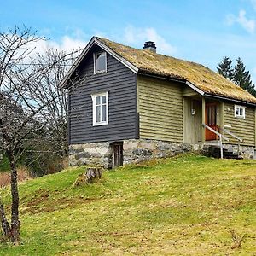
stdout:
<svg viewBox="0 0 256 256">
<path fill-rule="evenodd" d="M 94 47 L 79 65 L 87 80 L 69 90 L 69 143 L 113 142 L 137 137 L 136 74 L 107 54 L 107 73 L 94 74 Z M 108 125 L 92 125 L 91 94 L 108 91 Z"/>
</svg>

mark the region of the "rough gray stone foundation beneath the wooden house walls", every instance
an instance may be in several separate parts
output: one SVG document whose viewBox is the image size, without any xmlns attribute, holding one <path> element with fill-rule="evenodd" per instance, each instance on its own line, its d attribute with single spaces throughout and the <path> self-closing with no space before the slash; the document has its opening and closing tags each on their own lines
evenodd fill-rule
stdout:
<svg viewBox="0 0 256 256">
<path fill-rule="evenodd" d="M 123 141 L 123 164 L 137 163 L 154 158 L 170 157 L 185 152 L 201 151 L 205 143 L 171 143 L 159 140 L 131 139 Z M 237 152 L 237 145 L 224 144 L 224 148 Z M 255 159 L 254 147 L 240 146 L 241 157 Z M 84 143 L 69 147 L 70 166 L 96 165 L 106 169 L 112 166 L 110 143 Z"/>
</svg>

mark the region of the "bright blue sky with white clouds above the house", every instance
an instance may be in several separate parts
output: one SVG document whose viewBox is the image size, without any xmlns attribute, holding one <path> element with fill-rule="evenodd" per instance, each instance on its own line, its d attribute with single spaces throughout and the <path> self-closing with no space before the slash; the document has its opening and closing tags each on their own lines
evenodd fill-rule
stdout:
<svg viewBox="0 0 256 256">
<path fill-rule="evenodd" d="M 0 30 L 32 27 L 48 38 L 38 49 L 84 48 L 100 36 L 195 61 L 216 71 L 224 56 L 241 57 L 256 84 L 256 0 L 1 1 Z"/>
</svg>

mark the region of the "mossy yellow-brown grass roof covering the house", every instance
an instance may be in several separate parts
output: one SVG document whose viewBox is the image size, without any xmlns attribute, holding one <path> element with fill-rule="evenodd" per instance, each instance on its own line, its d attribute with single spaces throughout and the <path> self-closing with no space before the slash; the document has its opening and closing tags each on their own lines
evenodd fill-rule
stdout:
<svg viewBox="0 0 256 256">
<path fill-rule="evenodd" d="M 145 49 L 134 49 L 106 38 L 98 39 L 141 72 L 172 79 L 185 79 L 207 94 L 256 103 L 256 98 L 247 91 L 201 64 L 160 55 Z"/>
</svg>

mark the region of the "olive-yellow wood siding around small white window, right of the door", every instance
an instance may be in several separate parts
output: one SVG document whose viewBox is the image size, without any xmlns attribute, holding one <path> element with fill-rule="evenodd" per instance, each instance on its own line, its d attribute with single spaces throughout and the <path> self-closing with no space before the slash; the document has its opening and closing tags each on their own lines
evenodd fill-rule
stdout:
<svg viewBox="0 0 256 256">
<path fill-rule="evenodd" d="M 246 118 L 236 118 L 235 117 L 235 105 L 230 103 L 224 103 L 224 125 L 230 125 L 231 127 L 226 127 L 225 129 L 231 131 L 236 136 L 241 137 L 243 142 L 241 144 L 253 146 L 255 143 L 255 116 L 254 108 L 246 107 Z M 237 143 L 237 140 L 230 137 L 229 143 Z"/>
</svg>

